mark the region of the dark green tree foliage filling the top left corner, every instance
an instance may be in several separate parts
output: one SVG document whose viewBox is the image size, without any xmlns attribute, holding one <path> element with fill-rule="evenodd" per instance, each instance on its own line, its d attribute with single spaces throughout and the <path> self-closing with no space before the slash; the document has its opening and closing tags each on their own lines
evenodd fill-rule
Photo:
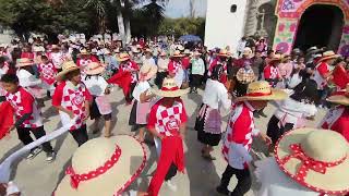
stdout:
<svg viewBox="0 0 349 196">
<path fill-rule="evenodd" d="M 44 0 L 0 0 L 0 24 L 11 27 L 19 36 L 44 33 L 49 37 L 64 30 L 91 34 L 96 29 L 93 10 L 79 1 L 64 0 L 51 5 Z"/>
</svg>

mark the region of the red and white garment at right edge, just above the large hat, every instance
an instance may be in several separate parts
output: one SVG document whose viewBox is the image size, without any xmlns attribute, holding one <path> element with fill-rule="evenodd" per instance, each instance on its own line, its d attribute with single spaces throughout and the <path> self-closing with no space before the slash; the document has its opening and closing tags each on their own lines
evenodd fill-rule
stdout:
<svg viewBox="0 0 349 196">
<path fill-rule="evenodd" d="M 321 122 L 320 127 L 340 133 L 349 142 L 349 109 L 338 106 L 330 109 Z"/>
</svg>

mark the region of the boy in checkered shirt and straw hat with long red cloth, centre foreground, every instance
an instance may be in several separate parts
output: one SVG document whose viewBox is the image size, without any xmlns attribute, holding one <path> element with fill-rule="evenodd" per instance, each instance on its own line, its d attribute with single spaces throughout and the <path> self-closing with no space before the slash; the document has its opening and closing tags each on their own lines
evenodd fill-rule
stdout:
<svg viewBox="0 0 349 196">
<path fill-rule="evenodd" d="M 164 180 L 169 188 L 176 191 L 171 179 L 177 170 L 184 171 L 183 138 L 186 126 L 186 112 L 180 96 L 188 90 L 179 89 L 173 78 L 165 78 L 160 90 L 154 94 L 161 98 L 151 109 L 148 131 L 154 135 L 155 146 L 159 156 L 156 172 L 147 193 L 157 196 Z"/>
</svg>

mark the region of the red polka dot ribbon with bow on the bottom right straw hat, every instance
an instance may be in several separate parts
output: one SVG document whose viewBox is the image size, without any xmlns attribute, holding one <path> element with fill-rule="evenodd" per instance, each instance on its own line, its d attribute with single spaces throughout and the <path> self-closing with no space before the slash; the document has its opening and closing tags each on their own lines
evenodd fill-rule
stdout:
<svg viewBox="0 0 349 196">
<path fill-rule="evenodd" d="M 296 173 L 296 179 L 301 182 L 305 181 L 309 170 L 313 170 L 315 172 L 325 174 L 328 168 L 336 167 L 342 163 L 347 159 L 347 156 L 346 156 L 336 162 L 323 162 L 323 161 L 317 161 L 308 157 L 300 144 L 290 145 L 290 149 L 292 154 L 280 159 L 280 164 L 285 166 L 291 158 L 299 159 L 300 161 L 302 161 L 302 166 Z"/>
</svg>

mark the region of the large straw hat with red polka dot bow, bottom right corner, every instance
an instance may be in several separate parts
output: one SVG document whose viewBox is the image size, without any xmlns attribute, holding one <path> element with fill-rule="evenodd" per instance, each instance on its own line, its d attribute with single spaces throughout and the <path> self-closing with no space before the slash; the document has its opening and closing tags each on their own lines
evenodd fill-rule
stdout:
<svg viewBox="0 0 349 196">
<path fill-rule="evenodd" d="M 300 128 L 286 133 L 275 147 L 280 169 L 317 193 L 349 192 L 349 145 L 337 132 Z"/>
</svg>

